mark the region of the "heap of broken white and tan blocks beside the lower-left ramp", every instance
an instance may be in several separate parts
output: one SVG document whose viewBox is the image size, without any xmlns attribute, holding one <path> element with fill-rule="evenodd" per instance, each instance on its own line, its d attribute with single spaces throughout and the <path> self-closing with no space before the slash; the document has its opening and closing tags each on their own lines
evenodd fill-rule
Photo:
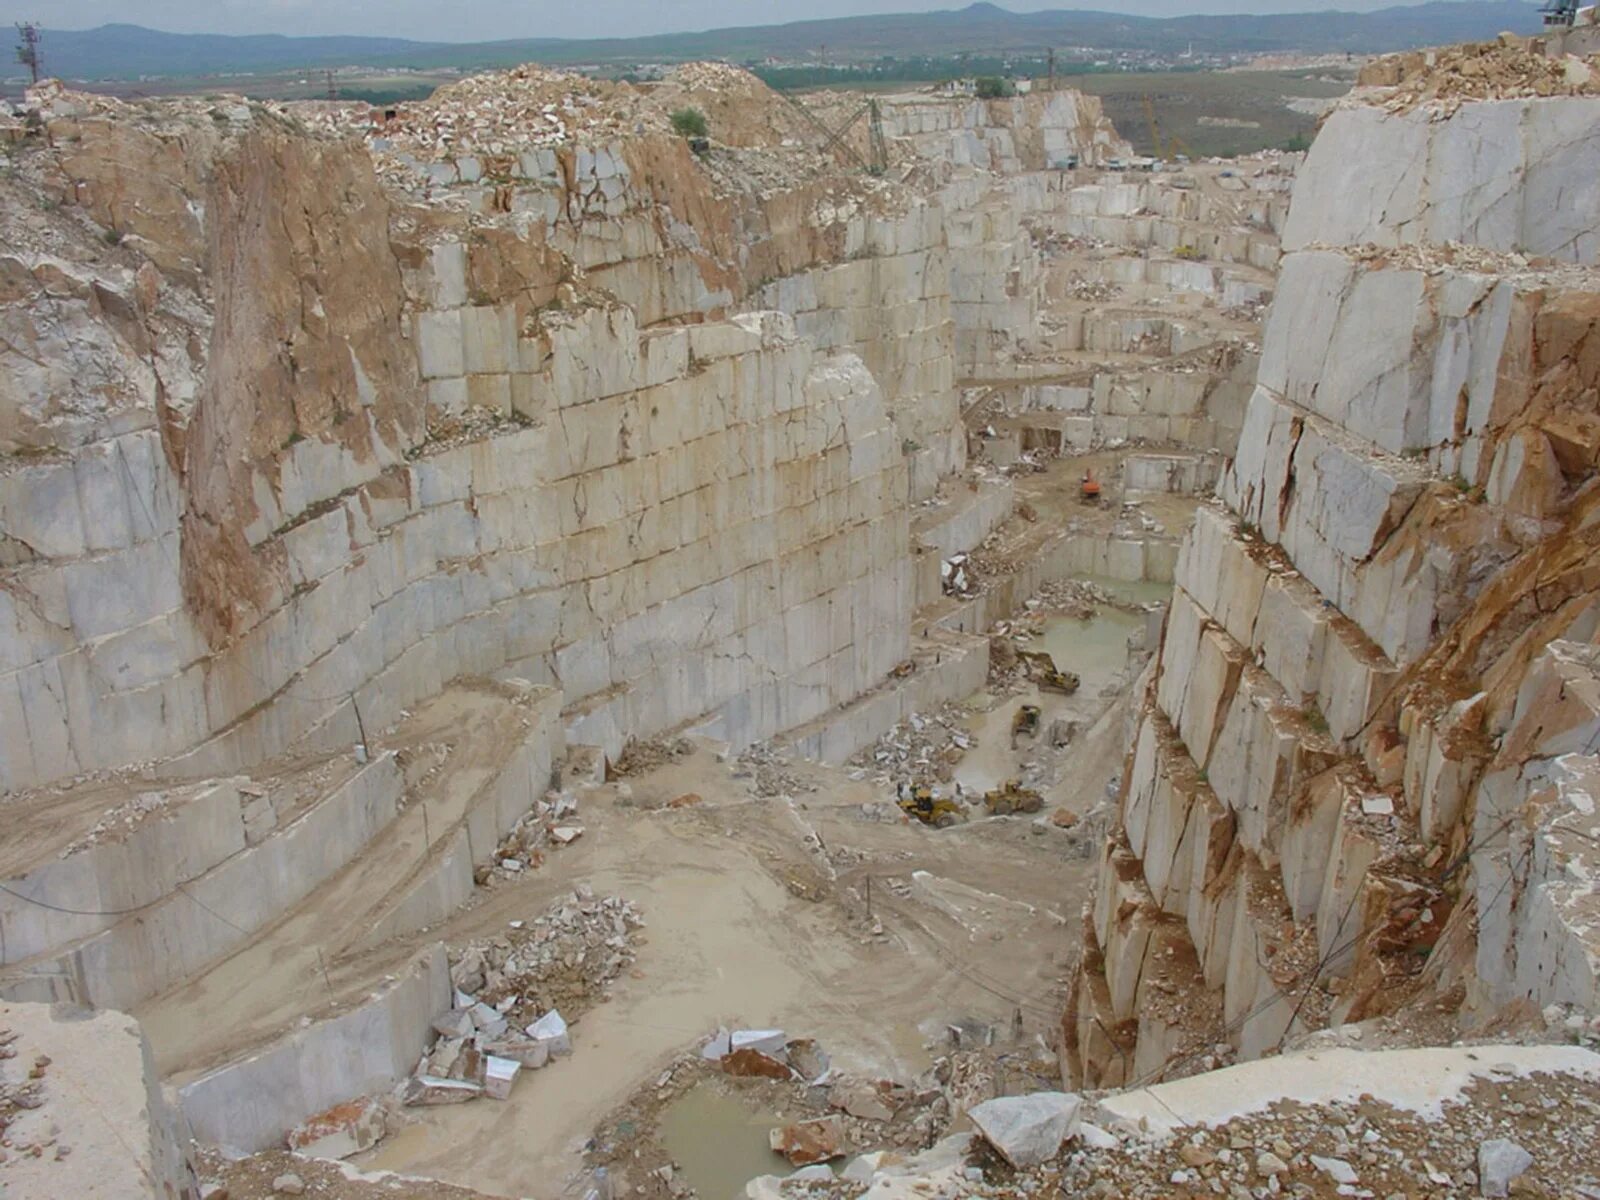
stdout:
<svg viewBox="0 0 1600 1200">
<path fill-rule="evenodd" d="M 434 1021 L 437 1038 L 403 1085 L 405 1104 L 507 1099 L 517 1075 L 573 1051 L 576 1018 L 634 962 L 643 926 L 624 899 L 587 886 L 533 922 L 451 952 L 454 1006 Z"/>
</svg>

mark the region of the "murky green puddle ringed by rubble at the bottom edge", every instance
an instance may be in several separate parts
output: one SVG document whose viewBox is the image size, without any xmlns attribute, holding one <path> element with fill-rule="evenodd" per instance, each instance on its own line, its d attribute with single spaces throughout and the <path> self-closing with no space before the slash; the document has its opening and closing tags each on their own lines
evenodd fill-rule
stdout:
<svg viewBox="0 0 1600 1200">
<path fill-rule="evenodd" d="M 750 1179 L 794 1170 L 766 1141 L 782 1123 L 702 1083 L 661 1110 L 661 1146 L 701 1200 L 736 1200 Z"/>
</svg>

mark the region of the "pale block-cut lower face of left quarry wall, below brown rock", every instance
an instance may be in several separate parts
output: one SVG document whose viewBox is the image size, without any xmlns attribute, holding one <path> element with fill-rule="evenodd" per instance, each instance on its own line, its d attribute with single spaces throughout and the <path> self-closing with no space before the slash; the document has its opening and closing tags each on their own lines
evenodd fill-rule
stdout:
<svg viewBox="0 0 1600 1200">
<path fill-rule="evenodd" d="M 534 378 L 518 424 L 365 480 L 323 442 L 286 446 L 280 478 L 304 483 L 262 480 L 245 531 L 258 562 L 280 555 L 278 602 L 210 654 L 154 437 L 5 475 L 0 507 L 37 552 L 8 611 L 5 784 L 179 755 L 234 770 L 318 726 L 352 742 L 350 698 L 382 726 L 458 675 L 595 699 L 579 736 L 613 750 L 725 706 L 746 742 L 904 658 L 906 464 L 858 358 L 819 357 L 778 315 L 642 336 L 619 307 L 536 339 L 466 330 L 462 309 L 418 317 L 422 374 L 526 354 L 534 370 L 504 376 Z M 54 541 L 27 531 L 43 522 Z M 125 544 L 90 550 L 85 523 Z"/>
</svg>

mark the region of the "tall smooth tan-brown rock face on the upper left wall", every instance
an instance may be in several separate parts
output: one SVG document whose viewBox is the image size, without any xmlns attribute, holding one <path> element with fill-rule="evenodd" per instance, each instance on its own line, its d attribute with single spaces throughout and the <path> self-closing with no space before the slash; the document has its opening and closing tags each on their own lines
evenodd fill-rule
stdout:
<svg viewBox="0 0 1600 1200">
<path fill-rule="evenodd" d="M 206 214 L 218 306 L 186 440 L 184 594 L 222 645 L 286 590 L 245 534 L 258 486 L 283 490 L 283 453 L 328 443 L 370 480 L 421 437 L 422 403 L 389 202 L 365 155 L 251 134 L 216 162 Z"/>
</svg>

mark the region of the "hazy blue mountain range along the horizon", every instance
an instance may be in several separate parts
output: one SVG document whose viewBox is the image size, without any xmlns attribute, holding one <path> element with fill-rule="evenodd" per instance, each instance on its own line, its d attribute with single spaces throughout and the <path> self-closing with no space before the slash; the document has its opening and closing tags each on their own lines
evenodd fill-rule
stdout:
<svg viewBox="0 0 1600 1200">
<path fill-rule="evenodd" d="M 1283 13 L 1274 16 L 1142 18 L 1125 13 L 1058 10 L 1010 13 L 995 5 L 939 13 L 798 21 L 784 26 L 714 29 L 640 38 L 435 43 L 382 37 L 222 37 L 163 34 L 141 26 L 43 30 L 40 46 L 51 75 L 75 80 L 128 80 L 147 75 L 197 77 L 362 67 L 493 67 L 514 62 L 616 64 L 768 56 L 795 59 L 829 46 L 832 61 L 994 54 L 1046 46 L 1179 53 L 1379 53 L 1411 46 L 1491 38 L 1510 29 L 1531 34 L 1538 8 L 1520 0 L 1435 0 L 1373 13 Z"/>
</svg>

